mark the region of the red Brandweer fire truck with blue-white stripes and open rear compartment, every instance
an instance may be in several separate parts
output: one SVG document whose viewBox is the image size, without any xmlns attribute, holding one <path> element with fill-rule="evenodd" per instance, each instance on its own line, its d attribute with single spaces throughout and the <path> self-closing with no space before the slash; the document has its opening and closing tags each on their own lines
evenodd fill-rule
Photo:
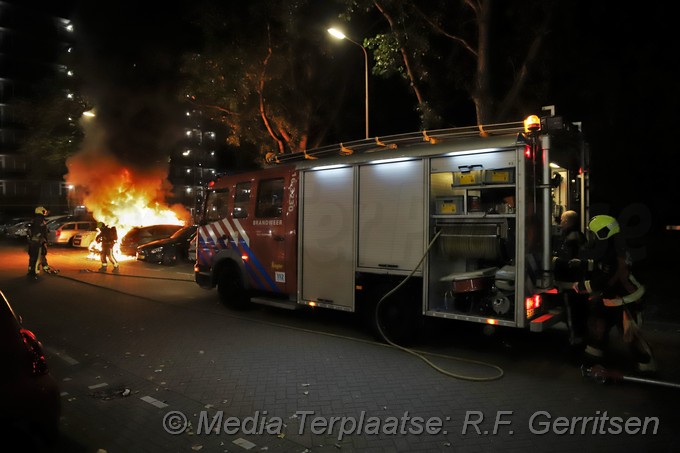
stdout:
<svg viewBox="0 0 680 453">
<path fill-rule="evenodd" d="M 563 319 L 551 260 L 561 212 L 585 229 L 589 158 L 580 124 L 544 111 L 271 155 L 219 177 L 196 283 L 233 309 L 364 314 L 394 341 L 427 317 L 545 330 Z"/>
</svg>

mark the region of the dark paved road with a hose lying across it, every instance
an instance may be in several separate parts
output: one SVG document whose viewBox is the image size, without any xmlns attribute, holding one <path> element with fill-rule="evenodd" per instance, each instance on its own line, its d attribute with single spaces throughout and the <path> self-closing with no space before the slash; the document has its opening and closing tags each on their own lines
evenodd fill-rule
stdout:
<svg viewBox="0 0 680 453">
<path fill-rule="evenodd" d="M 229 311 L 190 263 L 48 257 L 61 273 L 28 281 L 23 247 L 0 243 L 0 289 L 62 387 L 56 452 L 680 451 L 673 319 L 646 328 L 672 385 L 599 384 L 559 329 L 437 320 L 414 354 L 346 313 Z"/>
</svg>

